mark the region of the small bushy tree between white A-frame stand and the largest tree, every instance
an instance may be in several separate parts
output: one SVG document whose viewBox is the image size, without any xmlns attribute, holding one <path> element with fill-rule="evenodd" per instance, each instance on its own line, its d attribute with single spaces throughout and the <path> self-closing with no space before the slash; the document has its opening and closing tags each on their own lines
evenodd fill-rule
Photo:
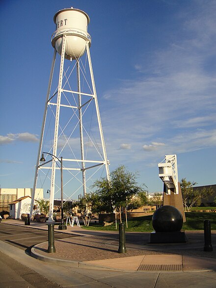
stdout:
<svg viewBox="0 0 216 288">
<path fill-rule="evenodd" d="M 73 208 L 78 208 L 85 226 L 89 226 L 94 215 L 101 211 L 99 196 L 95 193 L 89 193 L 73 203 Z"/>
</svg>

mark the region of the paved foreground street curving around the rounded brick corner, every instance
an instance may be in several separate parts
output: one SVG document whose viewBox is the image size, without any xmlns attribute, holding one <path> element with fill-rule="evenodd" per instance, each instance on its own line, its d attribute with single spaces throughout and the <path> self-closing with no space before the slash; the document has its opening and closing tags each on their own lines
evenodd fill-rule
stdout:
<svg viewBox="0 0 216 288">
<path fill-rule="evenodd" d="M 43 275 L 47 281 L 50 279 L 53 283 L 62 288 L 216 288 L 216 272 L 127 272 L 127 271 L 108 271 L 91 270 L 67 266 L 59 266 L 53 263 L 42 262 L 29 257 L 25 251 L 0 241 L 0 250 L 4 254 L 18 261 L 18 265 L 29 267 L 31 273 Z M 21 266 L 22 267 L 22 266 Z M 12 275 L 12 274 L 11 274 Z M 36 275 L 36 274 L 35 274 Z M 33 275 L 33 277 L 35 276 Z M 0 277 L 0 288 L 41 288 L 46 286 L 37 286 L 32 283 L 27 285 L 28 275 L 21 275 L 23 279 L 13 281 Z M 26 280 L 25 280 L 26 279 Z M 26 282 L 22 282 L 25 280 Z M 18 282 L 19 281 L 19 282 Z M 19 283 L 25 285 L 19 286 Z M 54 285 L 54 284 L 53 284 Z M 49 287 L 49 286 L 47 286 Z M 56 287 L 56 286 L 51 286 Z"/>
</svg>

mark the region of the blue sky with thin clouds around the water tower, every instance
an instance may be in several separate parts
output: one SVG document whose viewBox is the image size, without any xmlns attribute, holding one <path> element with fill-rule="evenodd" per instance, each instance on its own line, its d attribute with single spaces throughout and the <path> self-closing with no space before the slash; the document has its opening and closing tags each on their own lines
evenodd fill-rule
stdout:
<svg viewBox="0 0 216 288">
<path fill-rule="evenodd" d="M 162 191 L 158 163 L 216 183 L 215 0 L 1 0 L 0 185 L 32 187 L 54 14 L 79 8 L 88 32 L 110 171 Z"/>
</svg>

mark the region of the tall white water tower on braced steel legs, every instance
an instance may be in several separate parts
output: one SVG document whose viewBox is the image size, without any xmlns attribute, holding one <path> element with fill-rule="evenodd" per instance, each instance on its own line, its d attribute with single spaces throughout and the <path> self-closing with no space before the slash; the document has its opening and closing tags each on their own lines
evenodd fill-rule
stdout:
<svg viewBox="0 0 216 288">
<path fill-rule="evenodd" d="M 49 188 L 49 221 L 53 221 L 55 193 L 60 190 L 60 176 L 57 175 L 60 175 L 60 170 L 64 175 L 64 199 L 72 199 L 73 195 L 76 199 L 78 194 L 91 192 L 96 175 L 102 175 L 98 172 L 100 169 L 104 170 L 109 179 L 109 161 L 89 51 L 89 21 L 85 12 L 73 7 L 60 10 L 54 15 L 56 30 L 51 39 L 54 56 L 30 210 L 31 216 L 34 199 L 37 197 L 35 189 L 40 180 L 44 190 Z M 40 162 L 43 152 L 45 164 Z M 61 167 L 58 162 L 60 157 Z M 39 173 L 42 173 L 43 179 L 39 179 Z M 69 188 L 66 185 L 70 185 Z"/>
</svg>

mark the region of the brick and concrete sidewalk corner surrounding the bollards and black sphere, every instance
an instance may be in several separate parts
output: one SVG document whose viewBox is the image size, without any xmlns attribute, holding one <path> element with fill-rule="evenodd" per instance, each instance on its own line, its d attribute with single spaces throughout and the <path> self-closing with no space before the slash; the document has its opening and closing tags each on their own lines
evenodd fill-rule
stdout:
<svg viewBox="0 0 216 288">
<path fill-rule="evenodd" d="M 8 219 L 6 224 L 48 230 L 48 223 Z M 47 253 L 48 242 L 31 249 L 34 258 L 71 267 L 132 272 L 216 271 L 216 231 L 212 231 L 213 252 L 204 252 L 203 231 L 186 232 L 188 243 L 149 244 L 149 233 L 126 232 L 127 253 L 118 253 L 118 231 L 90 231 L 68 226 L 66 231 L 55 227 L 55 233 L 77 237 L 56 240 L 55 253 Z"/>
</svg>

